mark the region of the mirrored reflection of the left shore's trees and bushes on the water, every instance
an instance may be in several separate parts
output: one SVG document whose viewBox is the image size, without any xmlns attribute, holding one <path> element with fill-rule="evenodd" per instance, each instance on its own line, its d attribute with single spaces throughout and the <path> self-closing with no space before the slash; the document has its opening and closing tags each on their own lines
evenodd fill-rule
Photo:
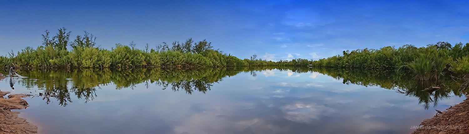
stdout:
<svg viewBox="0 0 469 134">
<path fill-rule="evenodd" d="M 96 90 L 101 85 L 114 85 L 116 89 L 136 87 L 136 84 L 150 83 L 170 87 L 174 91 L 183 90 L 188 94 L 194 91 L 202 93 L 211 90 L 213 83 L 222 81 L 223 77 L 234 76 L 240 68 L 205 68 L 199 70 L 164 70 L 161 68 L 137 68 L 133 70 L 109 69 L 74 69 L 68 70 L 34 70 L 24 72 L 28 78 L 20 82 L 28 89 L 43 89 L 39 95 L 47 104 L 51 98 L 57 99 L 60 105 L 67 106 L 72 102 L 70 93 L 85 103 L 92 101 Z"/>
</svg>

